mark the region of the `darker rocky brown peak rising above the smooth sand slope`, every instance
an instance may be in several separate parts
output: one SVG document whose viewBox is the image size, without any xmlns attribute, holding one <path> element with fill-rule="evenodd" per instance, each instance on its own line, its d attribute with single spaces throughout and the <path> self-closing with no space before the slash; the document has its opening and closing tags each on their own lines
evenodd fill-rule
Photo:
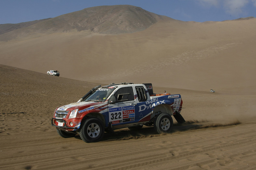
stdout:
<svg viewBox="0 0 256 170">
<path fill-rule="evenodd" d="M 102 34 L 132 33 L 142 31 L 161 19 L 170 20 L 171 18 L 130 5 L 96 6 L 45 20 L 2 24 L 0 25 L 0 35 L 9 33 L 0 39 L 10 40 L 10 37 L 16 38 L 20 35 L 28 36 L 30 34 L 70 32 L 73 30 L 90 30 Z"/>
</svg>

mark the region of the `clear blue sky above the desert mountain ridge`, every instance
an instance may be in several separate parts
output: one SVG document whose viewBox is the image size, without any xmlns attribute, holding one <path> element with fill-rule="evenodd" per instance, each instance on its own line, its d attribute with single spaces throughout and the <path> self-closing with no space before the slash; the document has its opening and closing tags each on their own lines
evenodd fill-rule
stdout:
<svg viewBox="0 0 256 170">
<path fill-rule="evenodd" d="M 104 5 L 139 6 L 182 21 L 256 17 L 256 0 L 0 0 L 0 24 L 52 18 Z"/>
</svg>

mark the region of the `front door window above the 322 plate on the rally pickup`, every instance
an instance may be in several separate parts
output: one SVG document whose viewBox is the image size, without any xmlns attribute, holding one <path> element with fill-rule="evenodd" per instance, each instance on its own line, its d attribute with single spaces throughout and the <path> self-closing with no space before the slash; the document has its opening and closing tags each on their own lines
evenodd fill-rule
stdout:
<svg viewBox="0 0 256 170">
<path fill-rule="evenodd" d="M 134 100 L 133 87 L 122 87 L 114 94 L 117 102 L 126 102 Z"/>
</svg>

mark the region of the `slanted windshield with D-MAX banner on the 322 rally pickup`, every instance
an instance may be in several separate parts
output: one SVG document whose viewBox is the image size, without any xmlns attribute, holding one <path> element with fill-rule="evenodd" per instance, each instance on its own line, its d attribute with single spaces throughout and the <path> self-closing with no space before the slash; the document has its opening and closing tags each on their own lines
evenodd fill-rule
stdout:
<svg viewBox="0 0 256 170">
<path fill-rule="evenodd" d="M 115 88 L 98 88 L 83 101 L 105 101 Z"/>
</svg>

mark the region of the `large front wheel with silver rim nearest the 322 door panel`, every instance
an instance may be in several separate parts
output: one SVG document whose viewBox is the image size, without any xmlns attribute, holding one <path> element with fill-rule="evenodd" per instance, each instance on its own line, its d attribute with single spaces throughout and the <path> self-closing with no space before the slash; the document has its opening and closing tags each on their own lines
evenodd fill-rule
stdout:
<svg viewBox="0 0 256 170">
<path fill-rule="evenodd" d="M 104 134 L 104 127 L 102 122 L 97 118 L 87 119 L 82 129 L 79 132 L 81 139 L 84 142 L 98 142 Z"/>
</svg>

